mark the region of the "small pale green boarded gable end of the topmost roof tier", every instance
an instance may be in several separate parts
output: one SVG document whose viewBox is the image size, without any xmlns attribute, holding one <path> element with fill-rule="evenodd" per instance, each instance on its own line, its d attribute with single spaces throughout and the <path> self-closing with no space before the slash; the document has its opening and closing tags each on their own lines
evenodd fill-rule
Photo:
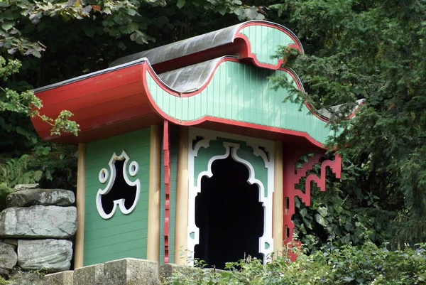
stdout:
<svg viewBox="0 0 426 285">
<path fill-rule="evenodd" d="M 251 53 L 256 55 L 257 60 L 268 65 L 278 65 L 278 58 L 271 56 L 277 53 L 279 45 L 296 44 L 286 33 L 266 26 L 248 26 L 240 33 L 249 38 Z"/>
</svg>

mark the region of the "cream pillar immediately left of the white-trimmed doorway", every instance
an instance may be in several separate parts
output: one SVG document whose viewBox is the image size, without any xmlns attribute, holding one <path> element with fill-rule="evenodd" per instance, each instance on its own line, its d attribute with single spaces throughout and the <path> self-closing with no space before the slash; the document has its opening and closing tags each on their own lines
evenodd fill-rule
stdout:
<svg viewBox="0 0 426 285">
<path fill-rule="evenodd" d="M 188 140 L 188 128 L 180 127 L 175 227 L 175 264 L 179 265 L 187 265 Z"/>
</svg>

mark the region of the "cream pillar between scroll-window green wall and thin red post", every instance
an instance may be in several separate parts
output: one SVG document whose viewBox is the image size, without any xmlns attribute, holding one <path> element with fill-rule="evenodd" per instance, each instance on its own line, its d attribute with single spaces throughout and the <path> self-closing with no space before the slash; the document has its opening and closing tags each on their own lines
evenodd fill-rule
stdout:
<svg viewBox="0 0 426 285">
<path fill-rule="evenodd" d="M 146 259 L 160 262 L 161 129 L 151 126 Z"/>
</svg>

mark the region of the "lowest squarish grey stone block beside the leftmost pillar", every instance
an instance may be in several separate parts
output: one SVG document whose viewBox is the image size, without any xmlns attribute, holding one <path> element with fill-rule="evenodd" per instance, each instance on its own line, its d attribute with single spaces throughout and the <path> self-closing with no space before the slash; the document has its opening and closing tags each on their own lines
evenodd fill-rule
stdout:
<svg viewBox="0 0 426 285">
<path fill-rule="evenodd" d="M 69 240 L 18 240 L 18 265 L 24 270 L 65 271 L 71 267 Z"/>
</svg>

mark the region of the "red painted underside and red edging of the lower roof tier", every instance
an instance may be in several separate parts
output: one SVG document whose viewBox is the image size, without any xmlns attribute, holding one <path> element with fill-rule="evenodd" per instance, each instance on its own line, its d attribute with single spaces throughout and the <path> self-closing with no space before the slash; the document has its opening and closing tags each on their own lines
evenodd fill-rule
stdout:
<svg viewBox="0 0 426 285">
<path fill-rule="evenodd" d="M 138 117 L 142 119 L 147 115 L 156 113 L 160 115 L 160 118 L 167 119 L 175 124 L 193 126 L 203 124 L 205 122 L 211 122 L 213 124 L 217 124 L 218 128 L 223 128 L 224 125 L 231 125 L 261 131 L 271 131 L 276 134 L 300 136 L 307 139 L 307 141 L 310 141 L 310 143 L 315 146 L 320 148 L 324 147 L 320 142 L 315 141 L 308 134 L 300 131 L 266 127 L 258 124 L 236 122 L 229 119 L 220 119 L 209 116 L 202 117 L 192 122 L 182 122 L 165 114 L 155 104 L 151 94 L 148 92 L 146 70 L 148 70 L 156 84 L 170 95 L 176 97 L 190 97 L 205 90 L 211 82 L 219 65 L 226 61 L 241 64 L 241 60 L 237 60 L 236 58 L 223 58 L 222 60 L 219 60 L 214 71 L 211 75 L 209 75 L 206 84 L 202 86 L 200 90 L 184 94 L 179 94 L 178 92 L 171 90 L 170 87 L 164 85 L 163 82 L 158 79 L 158 76 L 152 68 L 148 68 L 149 65 L 146 62 L 94 77 L 88 77 L 84 80 L 70 82 L 67 85 L 62 85 L 51 90 L 45 90 L 37 93 L 37 96 L 40 97 L 43 100 L 43 104 L 45 104 L 45 107 L 41 109 L 41 114 L 55 117 L 62 111 L 62 109 L 68 109 L 70 112 L 75 114 L 72 119 L 80 124 L 81 132 L 84 132 L 85 134 L 87 134 L 88 131 L 104 129 L 107 126 L 109 126 L 109 132 L 111 132 L 111 129 L 113 129 L 110 126 L 111 124 L 119 124 L 119 122 L 129 119 L 137 119 Z M 285 68 L 280 68 L 280 70 L 288 72 L 288 74 L 290 74 L 290 76 L 292 76 L 295 80 L 297 87 L 302 90 L 300 80 L 291 70 Z M 148 106 L 148 104 L 152 107 Z M 305 104 L 307 103 L 305 102 Z M 310 108 L 310 105 L 307 104 L 307 107 Z M 358 109 L 356 112 L 357 111 Z M 354 114 L 351 115 L 351 117 L 353 116 Z M 321 117 L 319 118 L 323 119 Z M 67 135 L 64 137 L 67 137 L 68 139 L 58 139 L 55 136 L 50 136 L 50 125 L 41 121 L 38 117 L 31 118 L 31 121 L 33 122 L 35 130 L 42 139 L 64 141 L 70 144 L 75 144 L 75 141 L 82 141 L 80 139 L 72 139 L 71 136 Z M 119 133 L 120 129 L 117 129 L 116 134 Z M 99 132 L 97 132 L 97 134 L 99 134 Z M 111 132 L 111 135 L 114 135 L 114 132 Z M 89 140 L 93 140 L 90 136 L 87 137 Z"/>
</svg>

